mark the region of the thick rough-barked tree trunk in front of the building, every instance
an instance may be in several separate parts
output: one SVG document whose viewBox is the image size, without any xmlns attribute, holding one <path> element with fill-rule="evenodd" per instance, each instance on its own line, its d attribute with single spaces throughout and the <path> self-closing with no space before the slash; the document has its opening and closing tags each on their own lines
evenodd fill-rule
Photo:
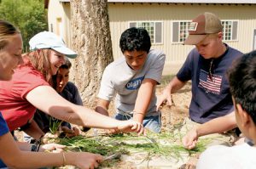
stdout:
<svg viewBox="0 0 256 169">
<path fill-rule="evenodd" d="M 72 0 L 70 4 L 72 45 L 79 54 L 73 61 L 71 79 L 84 105 L 93 108 L 102 72 L 113 61 L 108 0 Z"/>
</svg>

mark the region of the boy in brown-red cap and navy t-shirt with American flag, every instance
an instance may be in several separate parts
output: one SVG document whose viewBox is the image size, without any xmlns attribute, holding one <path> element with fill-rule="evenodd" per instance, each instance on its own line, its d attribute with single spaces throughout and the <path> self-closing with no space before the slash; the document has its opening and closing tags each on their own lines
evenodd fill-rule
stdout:
<svg viewBox="0 0 256 169">
<path fill-rule="evenodd" d="M 225 76 L 232 61 L 241 52 L 222 42 L 223 26 L 218 16 L 204 13 L 189 25 L 189 37 L 184 44 L 195 45 L 182 68 L 160 96 L 158 107 L 165 100 L 172 104 L 172 93 L 186 82 L 192 82 L 192 99 L 189 105 L 190 128 L 216 117 L 230 114 L 233 109 L 229 82 Z M 188 122 L 188 121 L 186 121 Z"/>
</svg>

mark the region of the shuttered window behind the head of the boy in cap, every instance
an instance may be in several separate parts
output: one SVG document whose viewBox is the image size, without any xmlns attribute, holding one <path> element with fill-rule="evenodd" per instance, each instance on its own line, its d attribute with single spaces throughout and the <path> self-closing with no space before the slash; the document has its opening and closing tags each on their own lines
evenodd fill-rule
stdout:
<svg viewBox="0 0 256 169">
<path fill-rule="evenodd" d="M 172 42 L 184 42 L 189 36 L 189 22 L 190 21 L 174 21 L 172 22 Z M 237 20 L 222 20 L 223 25 L 223 40 L 234 41 L 237 40 Z"/>
</svg>

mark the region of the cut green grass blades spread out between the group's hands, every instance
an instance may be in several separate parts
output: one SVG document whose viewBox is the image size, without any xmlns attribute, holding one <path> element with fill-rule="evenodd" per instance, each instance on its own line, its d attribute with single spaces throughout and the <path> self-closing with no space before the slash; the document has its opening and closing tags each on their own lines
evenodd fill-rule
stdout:
<svg viewBox="0 0 256 169">
<path fill-rule="evenodd" d="M 196 155 L 206 149 L 208 139 L 201 139 L 196 148 L 184 149 L 179 134 L 162 132 L 160 134 L 148 132 L 147 136 L 137 137 L 131 133 L 114 135 L 100 135 L 95 137 L 78 136 L 74 138 L 59 138 L 59 143 L 67 145 L 67 151 L 90 152 L 104 156 L 113 154 L 132 155 L 146 154 L 142 161 L 150 161 L 154 156 L 163 156 L 166 159 L 183 159 L 183 155 Z M 113 166 L 119 160 L 105 161 L 102 166 Z"/>
</svg>

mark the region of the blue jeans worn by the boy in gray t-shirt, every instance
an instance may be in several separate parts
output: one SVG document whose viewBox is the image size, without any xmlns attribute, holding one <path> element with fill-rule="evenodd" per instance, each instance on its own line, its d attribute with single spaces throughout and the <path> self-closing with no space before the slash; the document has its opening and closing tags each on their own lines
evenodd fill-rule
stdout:
<svg viewBox="0 0 256 169">
<path fill-rule="evenodd" d="M 132 119 L 132 115 L 129 114 L 116 114 L 114 118 L 119 121 L 126 121 Z M 161 130 L 161 113 L 155 116 L 144 116 L 143 127 L 148 128 L 152 132 L 159 133 Z"/>
</svg>

